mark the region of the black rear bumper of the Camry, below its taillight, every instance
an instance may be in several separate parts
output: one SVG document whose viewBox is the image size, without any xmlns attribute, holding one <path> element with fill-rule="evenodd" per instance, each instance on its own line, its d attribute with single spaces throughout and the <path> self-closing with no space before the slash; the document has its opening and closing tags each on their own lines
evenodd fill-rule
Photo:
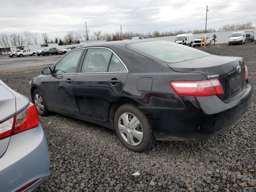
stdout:
<svg viewBox="0 0 256 192">
<path fill-rule="evenodd" d="M 252 86 L 246 83 L 244 90 L 229 103 L 217 96 L 180 98 L 183 109 L 141 108 L 150 116 L 156 140 L 203 141 L 224 132 L 249 108 Z"/>
</svg>

